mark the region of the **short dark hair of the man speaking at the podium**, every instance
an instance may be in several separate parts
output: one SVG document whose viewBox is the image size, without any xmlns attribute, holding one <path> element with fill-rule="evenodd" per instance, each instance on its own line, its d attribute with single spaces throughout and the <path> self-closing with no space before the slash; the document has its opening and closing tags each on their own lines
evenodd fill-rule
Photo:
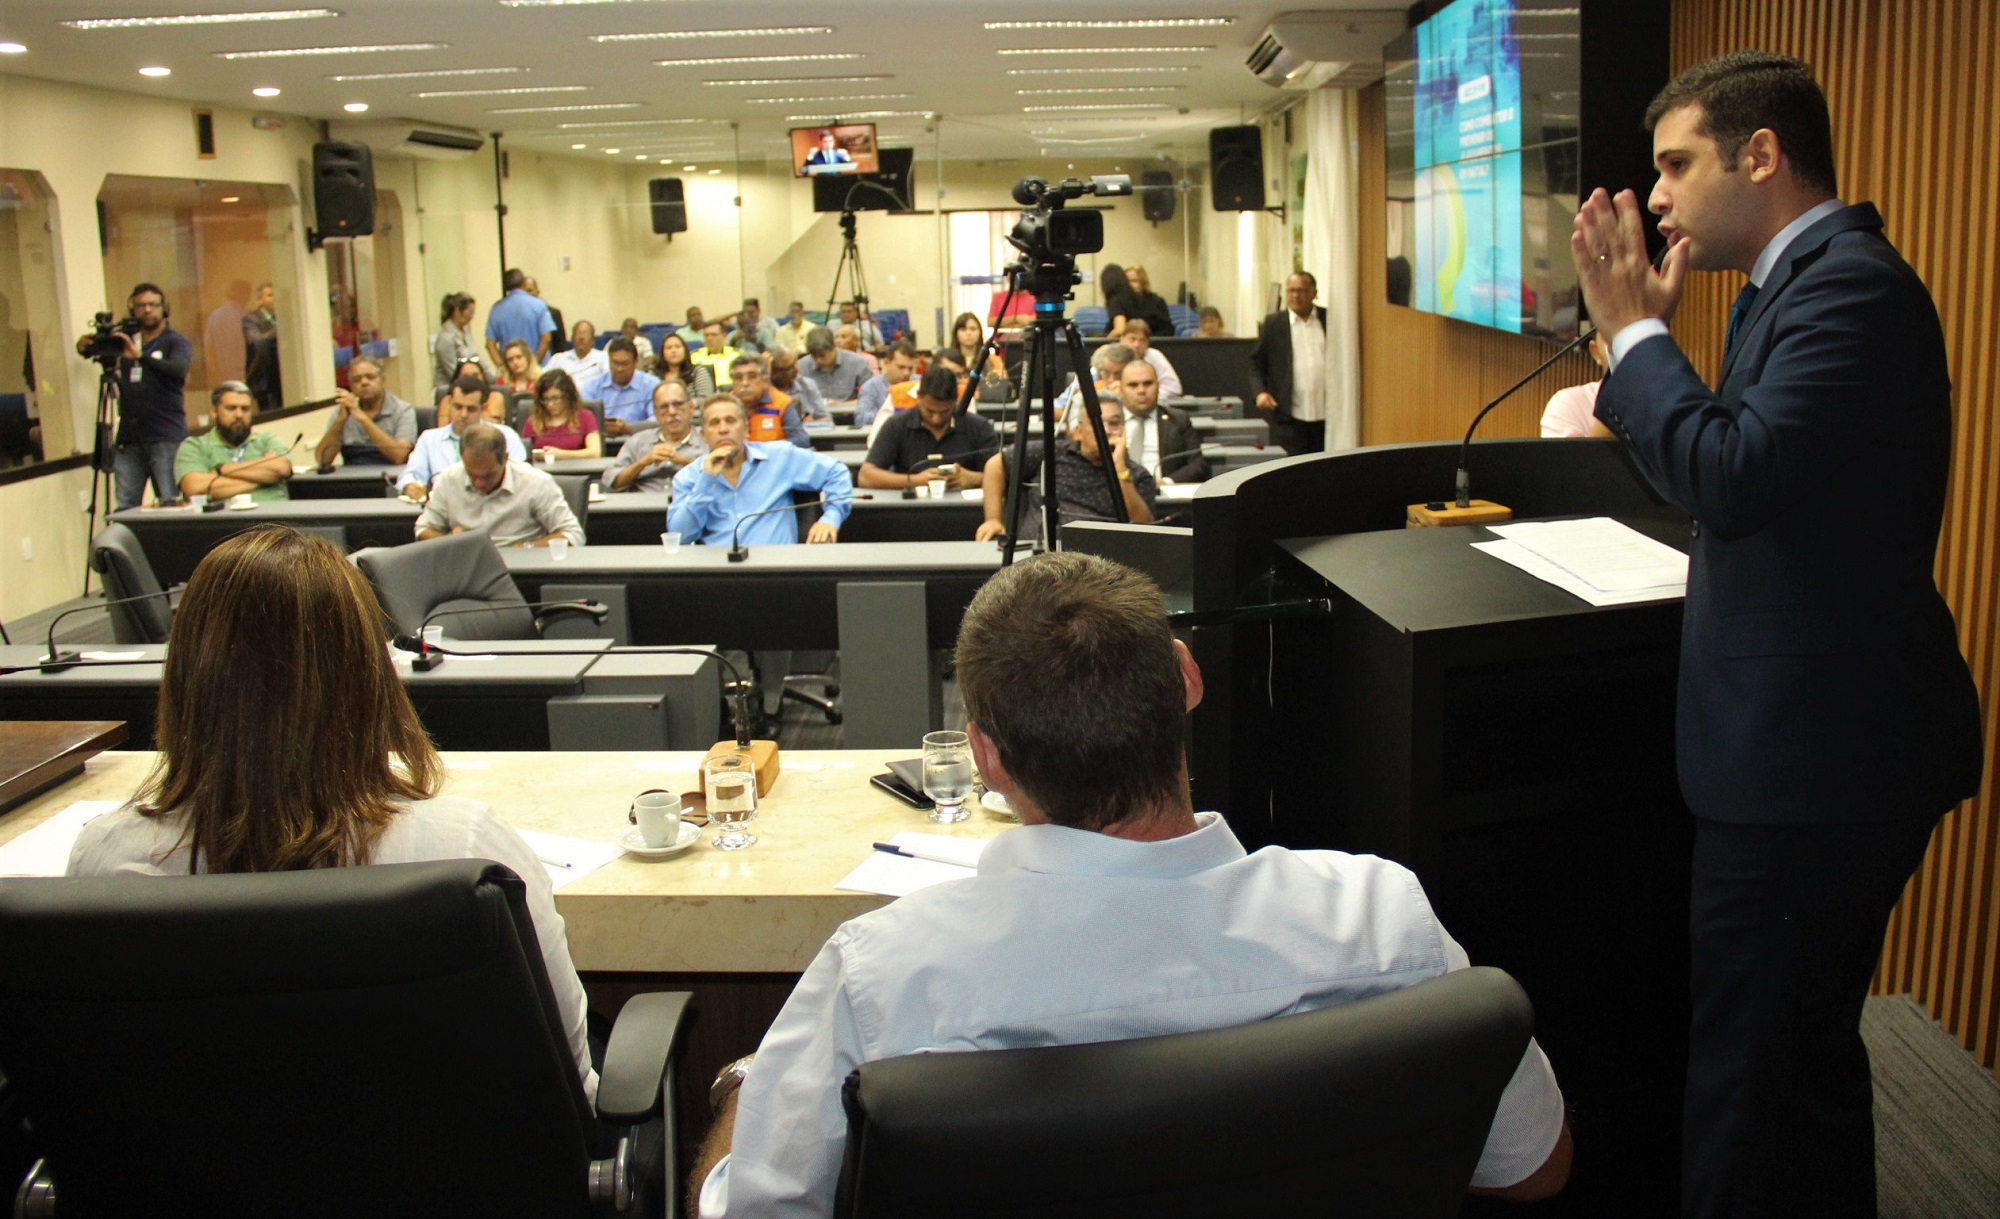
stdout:
<svg viewBox="0 0 2000 1219">
<path fill-rule="evenodd" d="M 1702 60 L 1646 106 L 1646 130 L 1682 106 L 1702 108 L 1694 132 L 1716 142 L 1726 170 L 1736 170 L 1736 154 L 1758 128 L 1770 128 L 1800 186 L 1840 194 L 1826 94 L 1804 60 L 1762 50 Z"/>
</svg>

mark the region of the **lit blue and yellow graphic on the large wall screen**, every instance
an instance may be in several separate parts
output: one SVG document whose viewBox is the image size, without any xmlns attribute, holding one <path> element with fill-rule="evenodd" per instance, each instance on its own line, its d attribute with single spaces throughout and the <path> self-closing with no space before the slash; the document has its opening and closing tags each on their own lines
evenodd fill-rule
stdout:
<svg viewBox="0 0 2000 1219">
<path fill-rule="evenodd" d="M 1520 334 L 1520 42 L 1510 0 L 1416 30 L 1416 308 Z"/>
</svg>

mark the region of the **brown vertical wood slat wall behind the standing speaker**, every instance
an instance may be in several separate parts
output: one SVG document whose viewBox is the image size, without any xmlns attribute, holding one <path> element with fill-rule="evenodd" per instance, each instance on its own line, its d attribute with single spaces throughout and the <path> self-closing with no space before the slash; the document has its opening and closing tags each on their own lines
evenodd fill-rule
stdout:
<svg viewBox="0 0 2000 1219">
<path fill-rule="evenodd" d="M 1940 821 L 1890 919 L 1876 989 L 1916 995 L 2000 1073 L 2000 90 L 1992 88 L 2000 4 L 1672 2 L 1674 70 L 1728 50 L 1774 50 L 1814 66 L 1832 106 L 1842 198 L 1882 208 L 1888 238 L 1930 286 L 1944 322 L 1954 428 L 1936 576 L 1986 707 L 1986 785 Z M 1548 348 L 1382 304 L 1382 90 L 1370 88 L 1360 182 L 1362 444 L 1456 440 L 1472 412 Z M 1676 342 L 1710 384 L 1740 286 L 1740 276 L 1694 276 L 1674 316 Z M 1548 396 L 1594 376 L 1586 356 L 1564 360 L 1480 434 L 1534 436 Z M 1866 488 L 1854 500 L 1866 504 Z"/>
</svg>

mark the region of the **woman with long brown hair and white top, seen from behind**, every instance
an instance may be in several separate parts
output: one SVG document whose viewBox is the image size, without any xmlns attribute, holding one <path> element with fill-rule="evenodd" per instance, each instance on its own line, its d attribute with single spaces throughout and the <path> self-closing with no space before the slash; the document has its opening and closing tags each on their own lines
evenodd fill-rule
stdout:
<svg viewBox="0 0 2000 1219">
<path fill-rule="evenodd" d="M 208 552 L 166 645 L 160 763 L 92 819 L 70 875 L 298 871 L 496 859 L 528 887 L 584 1091 L 584 987 L 548 873 L 490 807 L 438 795 L 444 763 L 388 657 L 382 610 L 338 548 L 258 526 Z"/>
</svg>

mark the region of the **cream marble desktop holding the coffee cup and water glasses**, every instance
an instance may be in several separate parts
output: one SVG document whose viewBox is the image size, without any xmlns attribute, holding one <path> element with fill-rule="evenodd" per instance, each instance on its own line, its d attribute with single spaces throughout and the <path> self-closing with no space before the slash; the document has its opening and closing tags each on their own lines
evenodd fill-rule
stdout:
<svg viewBox="0 0 2000 1219">
<path fill-rule="evenodd" d="M 750 825 L 746 851 L 708 845 L 666 859 L 620 855 L 562 887 L 570 955 L 582 971 L 796 973 L 842 921 L 886 901 L 834 885 L 870 843 L 914 829 L 992 837 L 1010 827 L 984 809 L 958 825 L 868 785 L 896 757 L 922 749 L 792 751 Z M 112 751 L 82 775 L 0 813 L 0 841 L 78 799 L 124 799 L 144 781 L 152 753 Z M 632 797 L 648 787 L 692 791 L 700 753 L 446 753 L 444 791 L 490 803 L 522 829 L 612 841 L 630 823 Z"/>
</svg>

